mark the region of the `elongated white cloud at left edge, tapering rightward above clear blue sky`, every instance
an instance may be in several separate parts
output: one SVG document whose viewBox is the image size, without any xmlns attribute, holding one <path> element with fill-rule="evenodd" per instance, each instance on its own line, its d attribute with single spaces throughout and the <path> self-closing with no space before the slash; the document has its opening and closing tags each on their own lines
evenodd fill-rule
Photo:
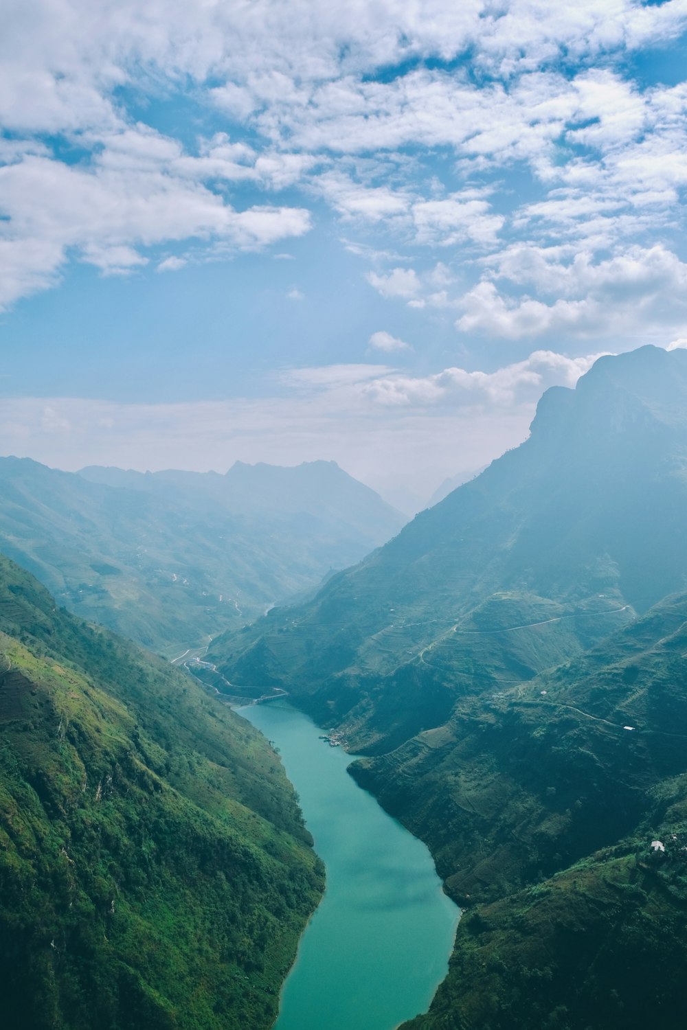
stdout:
<svg viewBox="0 0 687 1030">
<path fill-rule="evenodd" d="M 253 206 L 236 211 L 202 183 L 148 170 L 85 170 L 31 156 L 0 167 L 0 305 L 55 282 L 75 248 L 105 273 L 146 264 L 140 247 L 170 240 L 219 241 L 255 250 L 301 236 L 304 208 Z"/>
</svg>

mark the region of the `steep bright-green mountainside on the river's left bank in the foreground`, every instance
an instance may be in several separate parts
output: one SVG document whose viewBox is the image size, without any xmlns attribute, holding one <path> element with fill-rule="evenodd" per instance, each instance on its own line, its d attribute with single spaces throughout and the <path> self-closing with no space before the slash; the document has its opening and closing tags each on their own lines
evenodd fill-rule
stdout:
<svg viewBox="0 0 687 1030">
<path fill-rule="evenodd" d="M 3 1025 L 268 1028 L 322 890 L 267 741 L 0 558 Z"/>
</svg>

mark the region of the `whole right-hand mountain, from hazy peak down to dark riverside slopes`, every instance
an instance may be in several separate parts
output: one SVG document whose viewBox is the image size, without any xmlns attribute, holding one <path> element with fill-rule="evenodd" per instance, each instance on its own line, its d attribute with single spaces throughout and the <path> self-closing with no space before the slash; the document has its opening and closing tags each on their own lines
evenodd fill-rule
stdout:
<svg viewBox="0 0 687 1030">
<path fill-rule="evenodd" d="M 687 352 L 643 347 L 548 390 L 524 444 L 312 599 L 213 642 L 232 682 L 344 730 L 467 906 L 413 1030 L 682 1025 L 686 524 Z"/>
</svg>

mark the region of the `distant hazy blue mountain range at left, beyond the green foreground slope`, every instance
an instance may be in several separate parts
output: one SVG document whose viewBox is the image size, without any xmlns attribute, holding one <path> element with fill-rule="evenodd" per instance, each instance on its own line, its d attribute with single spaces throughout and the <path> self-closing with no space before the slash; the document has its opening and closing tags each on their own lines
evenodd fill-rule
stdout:
<svg viewBox="0 0 687 1030">
<path fill-rule="evenodd" d="M 328 461 L 76 475 L 0 458 L 0 550 L 60 604 L 170 654 L 316 585 L 403 522 Z"/>
</svg>

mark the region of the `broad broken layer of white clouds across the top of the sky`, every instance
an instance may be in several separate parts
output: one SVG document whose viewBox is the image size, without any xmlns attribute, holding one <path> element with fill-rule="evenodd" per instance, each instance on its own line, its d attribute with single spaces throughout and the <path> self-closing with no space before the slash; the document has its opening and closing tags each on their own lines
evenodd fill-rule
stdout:
<svg viewBox="0 0 687 1030">
<path fill-rule="evenodd" d="M 374 263 L 382 297 L 459 306 L 463 333 L 613 332 L 624 316 L 607 305 L 628 310 L 632 288 L 647 327 L 677 317 L 671 300 L 661 321 L 651 262 L 631 247 L 662 239 L 667 253 L 680 229 L 687 84 L 631 81 L 626 59 L 687 31 L 684 0 L 6 7 L 4 305 L 54 285 L 72 258 L 126 274 L 173 270 L 182 259 L 149 252 L 172 242 L 206 256 L 268 247 L 306 233 L 314 201 L 377 234 L 347 245 Z M 146 125 L 144 105 L 134 113 L 130 98 L 151 89 L 196 105 L 183 142 Z M 511 173 L 523 170 L 534 196 L 519 202 Z M 282 202 L 295 187 L 302 203 Z M 553 243 L 577 263 L 537 258 Z M 451 254 L 460 293 L 430 281 L 418 248 Z M 484 253 L 488 272 L 471 264 Z M 637 285 L 623 262 L 642 265 Z"/>
</svg>

